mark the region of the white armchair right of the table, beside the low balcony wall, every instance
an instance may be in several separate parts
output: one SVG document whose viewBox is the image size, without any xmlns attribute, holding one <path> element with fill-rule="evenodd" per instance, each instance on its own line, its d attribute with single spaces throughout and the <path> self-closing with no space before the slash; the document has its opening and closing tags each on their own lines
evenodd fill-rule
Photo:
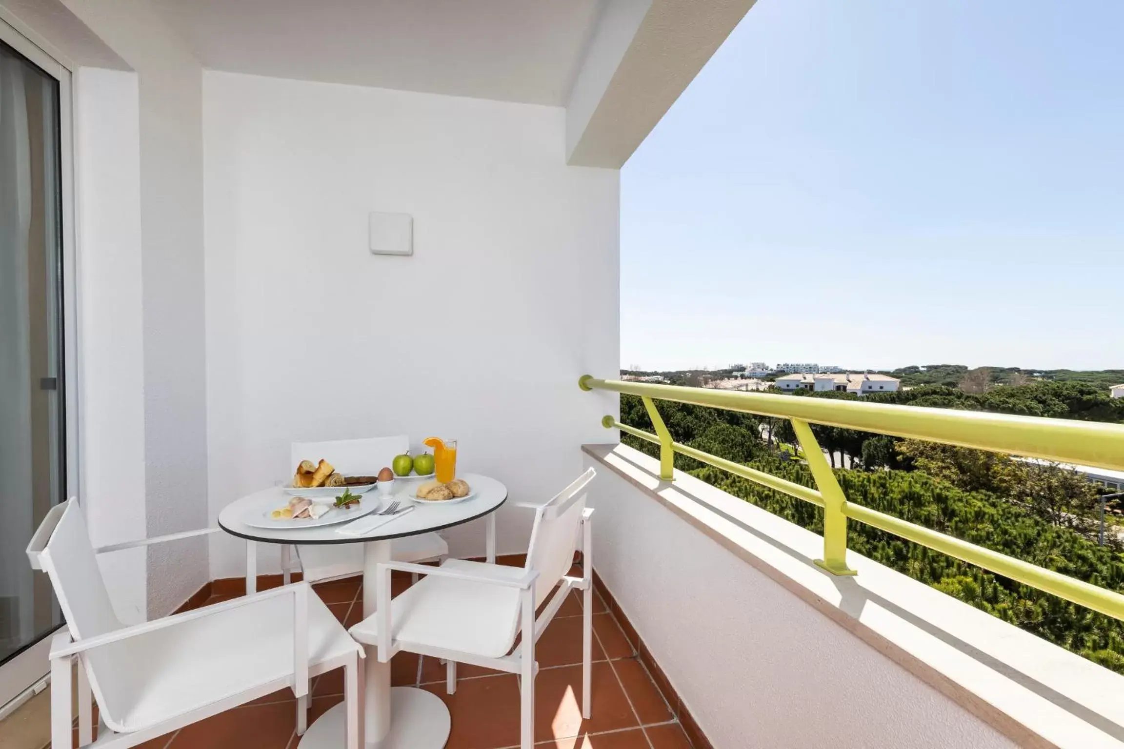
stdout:
<svg viewBox="0 0 1124 749">
<path fill-rule="evenodd" d="M 352 637 L 378 646 L 379 660 L 400 650 L 448 660 L 446 688 L 456 691 L 456 661 L 520 675 L 520 748 L 534 743 L 535 641 L 550 624 L 565 596 L 582 591 L 581 714 L 589 719 L 590 652 L 592 648 L 591 508 L 583 490 L 596 475 L 590 468 L 544 505 L 534 506 L 527 564 L 523 569 L 480 561 L 447 559 L 439 567 L 390 561 L 379 565 L 377 611 L 351 629 Z M 582 576 L 566 575 L 578 548 Z M 390 599 L 390 572 L 400 569 L 426 577 Z M 535 610 L 558 591 L 538 619 Z M 513 651 L 515 637 L 523 632 Z"/>
</svg>

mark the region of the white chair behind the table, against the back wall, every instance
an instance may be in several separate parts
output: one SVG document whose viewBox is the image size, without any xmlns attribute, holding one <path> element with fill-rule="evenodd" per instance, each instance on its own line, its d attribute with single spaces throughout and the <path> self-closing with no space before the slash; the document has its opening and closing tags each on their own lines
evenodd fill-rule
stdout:
<svg viewBox="0 0 1124 749">
<path fill-rule="evenodd" d="M 289 463 L 296 466 L 301 460 L 316 463 L 324 458 L 342 474 L 374 475 L 383 466 L 389 466 L 396 455 L 401 455 L 409 448 L 410 440 L 405 435 L 330 442 L 293 442 L 289 450 Z M 297 552 L 298 569 L 303 572 L 306 582 L 351 577 L 363 572 L 362 544 L 306 545 L 292 548 Z M 292 569 L 289 549 L 288 545 L 281 547 L 281 573 L 285 583 L 289 582 Z M 391 556 L 396 561 L 443 559 L 448 556 L 448 544 L 437 533 L 396 538 L 391 545 Z"/>
</svg>

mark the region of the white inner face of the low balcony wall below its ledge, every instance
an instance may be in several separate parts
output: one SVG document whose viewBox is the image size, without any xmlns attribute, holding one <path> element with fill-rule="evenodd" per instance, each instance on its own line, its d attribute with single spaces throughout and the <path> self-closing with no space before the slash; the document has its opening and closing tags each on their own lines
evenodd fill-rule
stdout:
<svg viewBox="0 0 1124 749">
<path fill-rule="evenodd" d="M 656 471 L 628 448 L 614 460 L 638 481 Z M 593 566 L 715 747 L 1016 746 L 605 463 L 586 463 L 598 472 Z"/>
</svg>

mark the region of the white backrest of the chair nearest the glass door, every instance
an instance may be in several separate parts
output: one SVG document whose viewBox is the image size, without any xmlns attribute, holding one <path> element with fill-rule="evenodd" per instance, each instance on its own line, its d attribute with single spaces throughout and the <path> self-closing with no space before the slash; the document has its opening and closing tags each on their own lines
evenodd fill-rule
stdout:
<svg viewBox="0 0 1124 749">
<path fill-rule="evenodd" d="M 27 554 L 31 566 L 51 578 L 72 638 L 97 637 L 123 627 L 109 601 L 78 500 L 52 509 L 35 531 Z"/>
</svg>

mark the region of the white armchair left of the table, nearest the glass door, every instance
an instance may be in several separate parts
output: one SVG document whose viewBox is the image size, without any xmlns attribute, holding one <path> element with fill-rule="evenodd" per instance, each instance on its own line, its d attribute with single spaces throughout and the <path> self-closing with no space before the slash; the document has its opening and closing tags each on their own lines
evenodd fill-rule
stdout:
<svg viewBox="0 0 1124 749">
<path fill-rule="evenodd" d="M 97 554 L 185 538 L 188 531 L 97 551 L 76 500 L 47 513 L 31 537 L 31 566 L 51 577 L 66 619 L 51 643 L 51 740 L 71 746 L 71 661 L 78 657 L 79 746 L 125 749 L 230 707 L 344 667 L 346 746 L 362 743 L 360 658 L 352 640 L 307 583 L 125 627 L 114 613 Z M 160 581 L 149 581 L 160 584 Z"/>
</svg>

